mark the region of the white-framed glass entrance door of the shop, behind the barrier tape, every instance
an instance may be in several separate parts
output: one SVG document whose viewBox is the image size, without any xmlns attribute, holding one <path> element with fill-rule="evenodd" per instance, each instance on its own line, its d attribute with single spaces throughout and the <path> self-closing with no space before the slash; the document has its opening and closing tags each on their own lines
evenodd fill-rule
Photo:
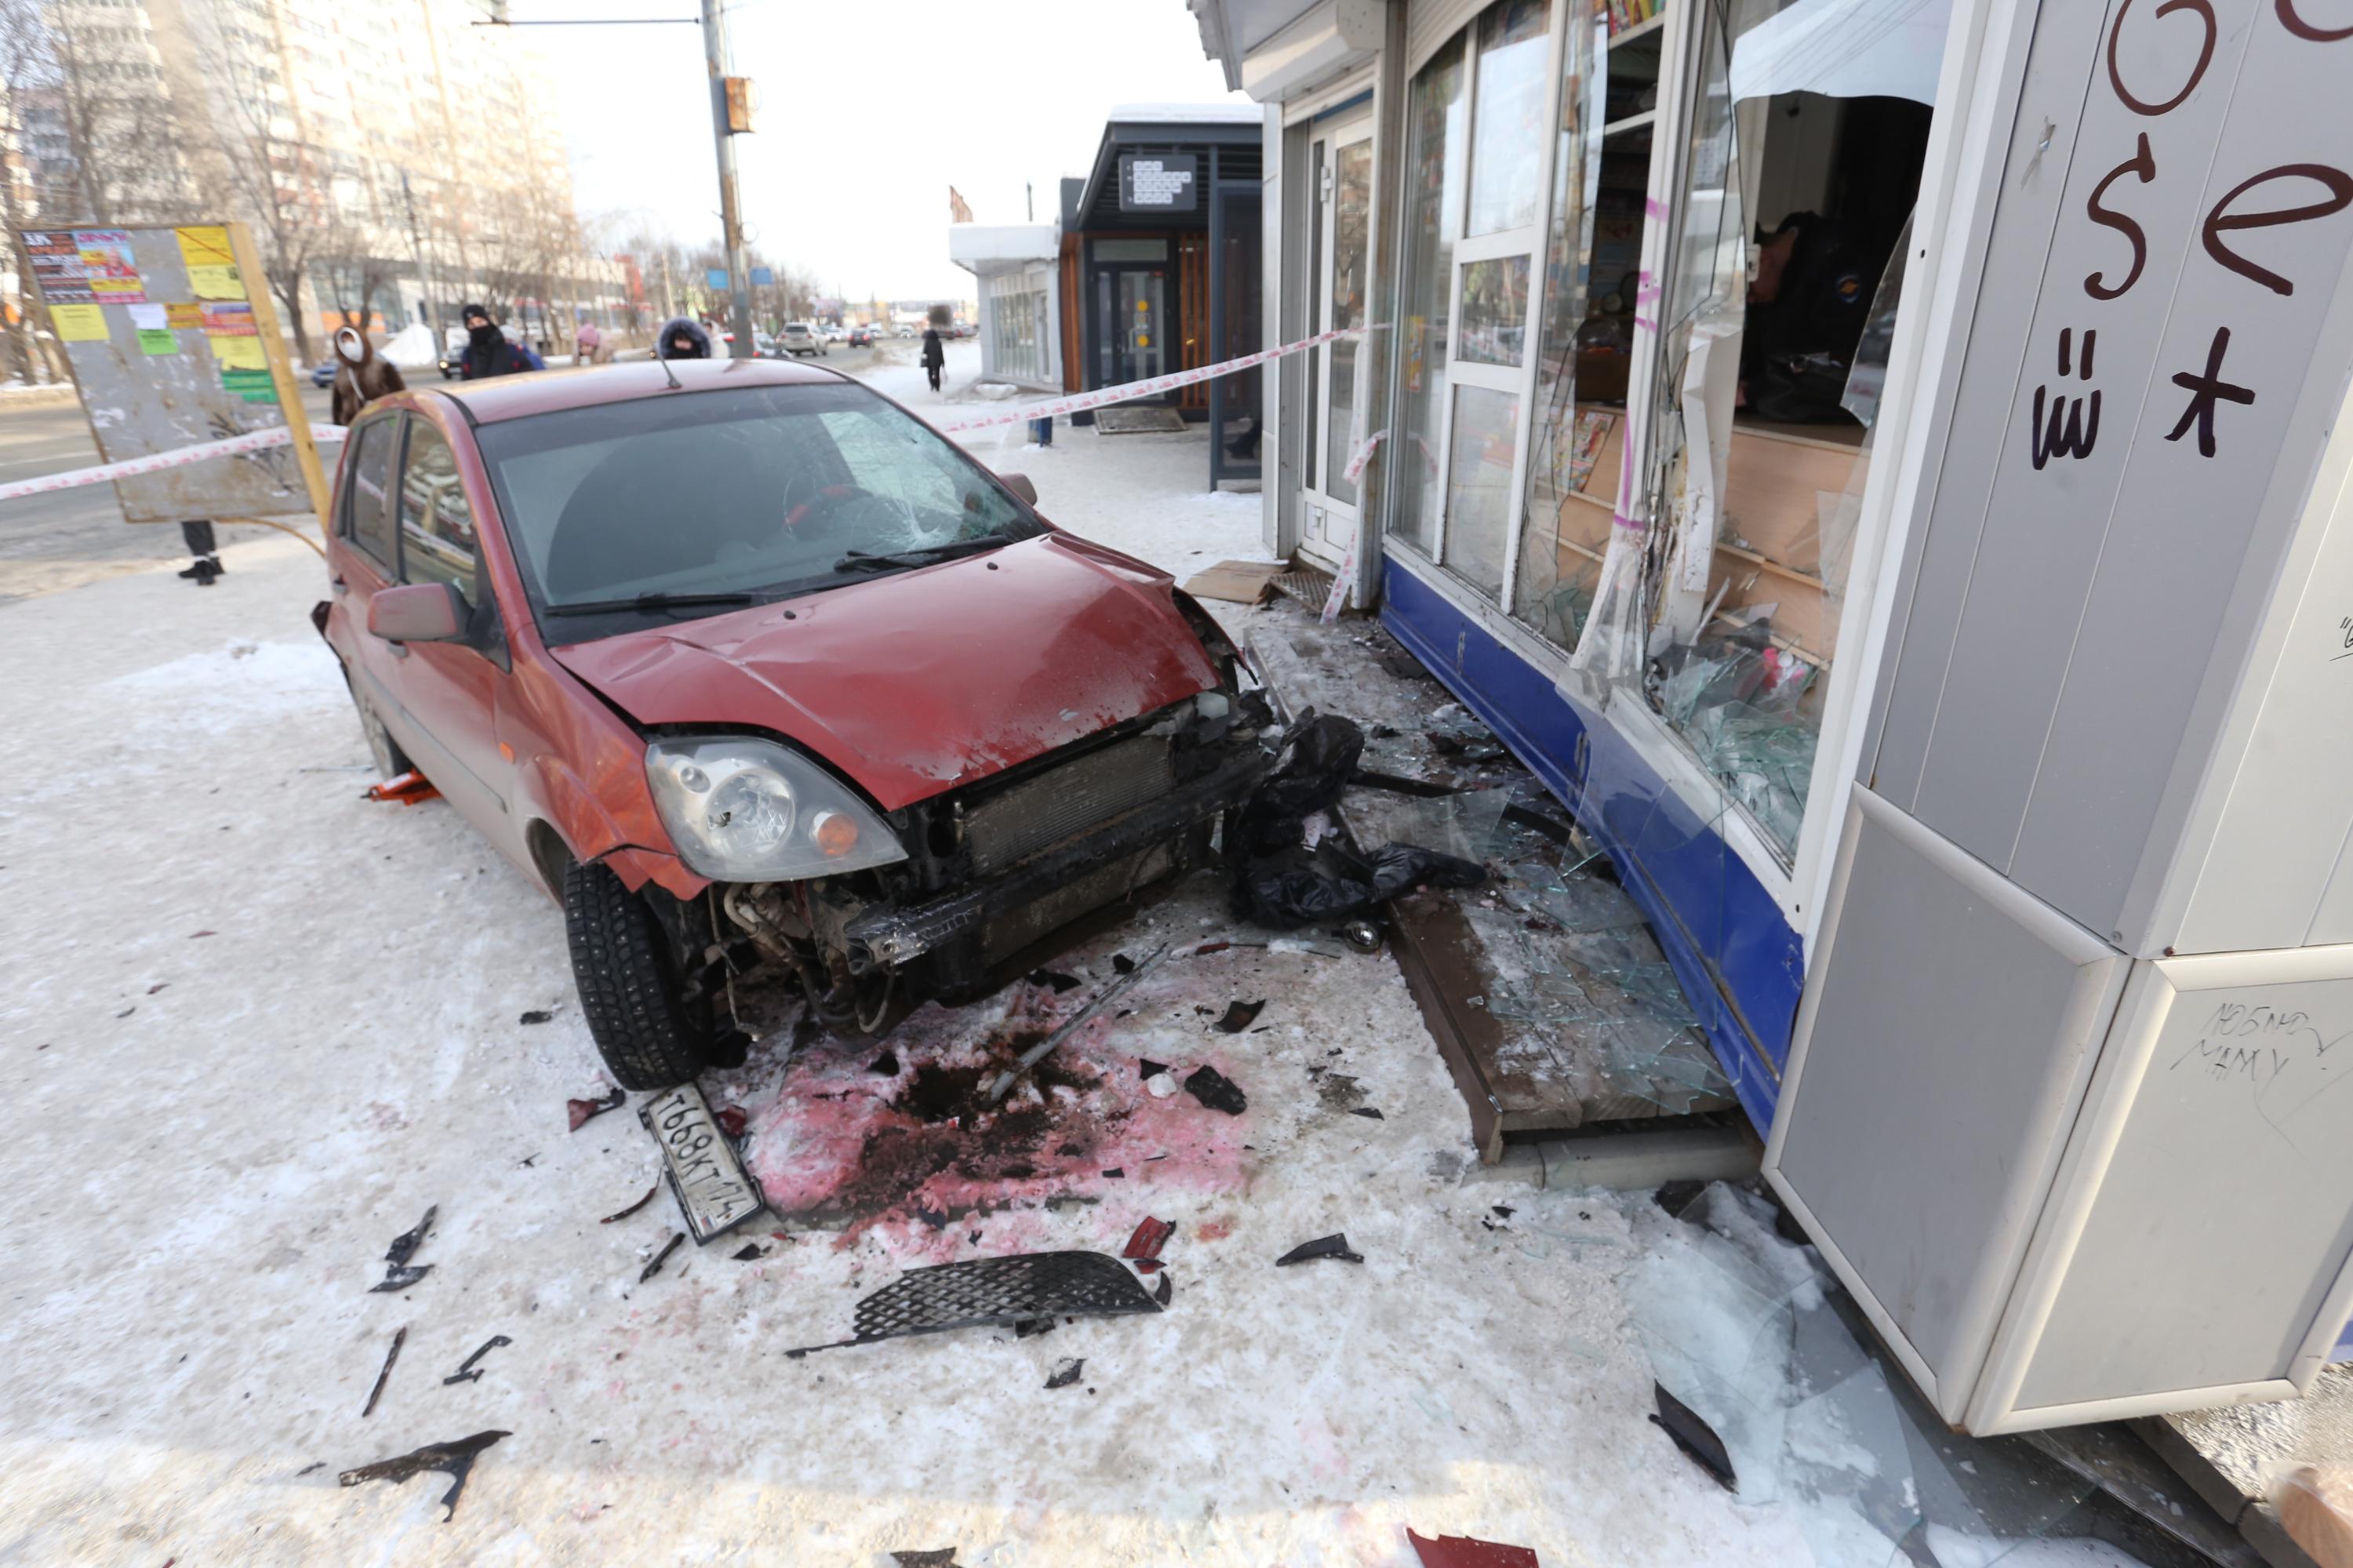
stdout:
<svg viewBox="0 0 2353 1568">
<path fill-rule="evenodd" d="M 1308 323 L 1313 332 L 1365 325 L 1372 264 L 1372 120 L 1318 132 L 1308 144 Z M 1315 348 L 1308 374 L 1306 506 L 1299 544 L 1337 567 L 1355 544 L 1358 483 L 1348 464 L 1365 440 L 1365 339 Z"/>
</svg>

